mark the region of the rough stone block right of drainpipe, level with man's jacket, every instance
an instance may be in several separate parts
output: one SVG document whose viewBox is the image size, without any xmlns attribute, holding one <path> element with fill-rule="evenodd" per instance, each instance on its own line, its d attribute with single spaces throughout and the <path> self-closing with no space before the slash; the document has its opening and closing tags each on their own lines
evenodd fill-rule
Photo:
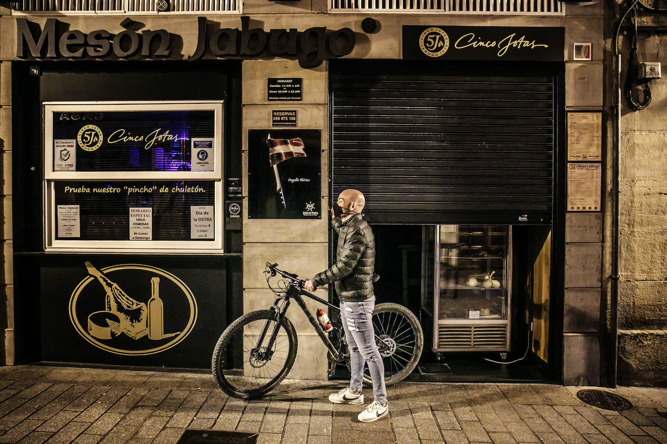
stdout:
<svg viewBox="0 0 667 444">
<path fill-rule="evenodd" d="M 618 268 L 622 280 L 664 280 L 666 232 L 621 232 Z"/>
</svg>

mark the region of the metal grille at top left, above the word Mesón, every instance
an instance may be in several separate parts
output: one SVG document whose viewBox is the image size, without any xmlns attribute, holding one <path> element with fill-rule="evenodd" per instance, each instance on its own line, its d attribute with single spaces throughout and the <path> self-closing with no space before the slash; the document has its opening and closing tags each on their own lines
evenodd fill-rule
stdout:
<svg viewBox="0 0 667 444">
<path fill-rule="evenodd" d="M 159 3 L 165 12 L 239 12 L 237 0 L 21 0 L 15 11 L 157 12 Z"/>
</svg>

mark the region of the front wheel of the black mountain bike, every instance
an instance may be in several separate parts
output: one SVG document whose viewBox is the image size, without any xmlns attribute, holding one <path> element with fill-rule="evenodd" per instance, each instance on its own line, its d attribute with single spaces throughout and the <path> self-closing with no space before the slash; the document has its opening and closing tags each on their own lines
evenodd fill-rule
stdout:
<svg viewBox="0 0 667 444">
<path fill-rule="evenodd" d="M 296 332 L 283 318 L 269 347 L 275 324 L 274 312 L 251 312 L 231 323 L 217 340 L 211 369 L 217 385 L 227 395 L 252 399 L 285 379 L 296 357 Z"/>
</svg>

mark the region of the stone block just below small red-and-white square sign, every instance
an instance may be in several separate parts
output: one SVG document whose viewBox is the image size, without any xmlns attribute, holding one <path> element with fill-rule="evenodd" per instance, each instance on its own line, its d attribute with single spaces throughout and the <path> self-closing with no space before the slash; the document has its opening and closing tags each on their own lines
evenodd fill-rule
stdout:
<svg viewBox="0 0 667 444">
<path fill-rule="evenodd" d="M 603 81 L 602 62 L 566 63 L 566 107 L 602 107 Z"/>
</svg>

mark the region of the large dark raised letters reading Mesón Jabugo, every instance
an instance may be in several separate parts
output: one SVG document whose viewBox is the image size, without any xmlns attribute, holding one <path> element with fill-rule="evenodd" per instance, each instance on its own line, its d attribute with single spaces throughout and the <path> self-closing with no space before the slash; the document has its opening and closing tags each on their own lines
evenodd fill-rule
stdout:
<svg viewBox="0 0 667 444">
<path fill-rule="evenodd" d="M 83 33 L 68 23 L 47 19 L 43 27 L 16 20 L 16 55 L 21 59 L 130 59 L 172 56 L 171 37 L 165 29 L 135 31 L 137 23 L 125 19 L 126 29 L 113 34 L 105 29 Z M 297 29 L 250 28 L 241 17 L 241 29 L 221 28 L 219 23 L 197 19 L 197 46 L 188 60 L 235 57 L 295 57 L 302 68 L 321 65 L 325 57 L 343 57 L 354 49 L 356 36 L 350 28 L 329 31 L 326 27 Z M 176 55 L 177 56 L 177 55 Z"/>
</svg>

